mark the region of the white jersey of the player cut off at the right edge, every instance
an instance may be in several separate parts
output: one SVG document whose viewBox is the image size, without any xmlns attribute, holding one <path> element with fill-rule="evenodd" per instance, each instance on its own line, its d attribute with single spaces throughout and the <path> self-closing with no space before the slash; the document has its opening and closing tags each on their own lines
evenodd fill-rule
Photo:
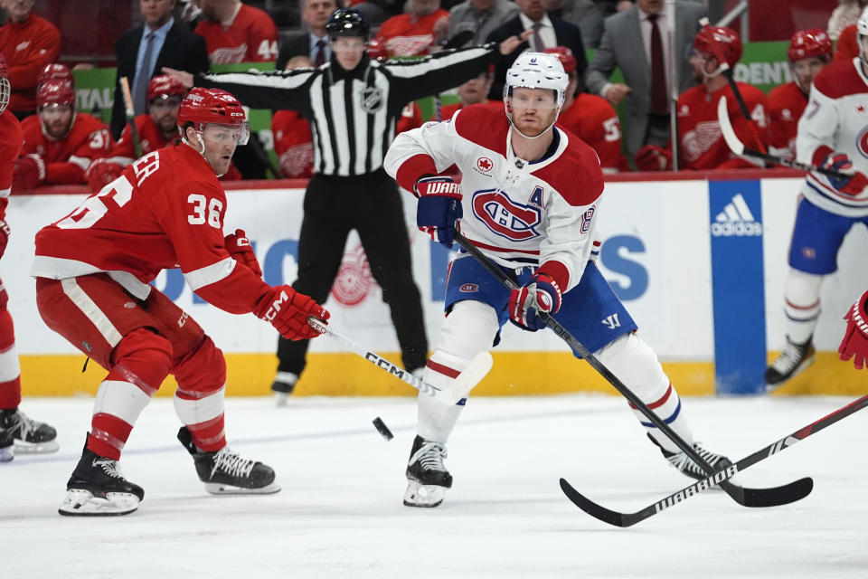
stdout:
<svg viewBox="0 0 868 579">
<path fill-rule="evenodd" d="M 810 100 L 798 121 L 797 160 L 819 165 L 829 153 L 844 153 L 868 176 L 868 77 L 859 59 L 827 65 L 814 79 Z M 829 213 L 868 215 L 868 187 L 846 195 L 819 173 L 809 173 L 802 194 Z"/>
</svg>

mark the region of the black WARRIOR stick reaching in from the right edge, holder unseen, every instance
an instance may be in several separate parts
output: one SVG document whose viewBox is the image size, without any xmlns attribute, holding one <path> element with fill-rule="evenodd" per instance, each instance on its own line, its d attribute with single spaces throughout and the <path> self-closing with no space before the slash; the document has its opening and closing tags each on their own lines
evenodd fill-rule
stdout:
<svg viewBox="0 0 868 579">
<path fill-rule="evenodd" d="M 617 511 L 600 507 L 597 503 L 584 497 L 578 490 L 573 489 L 570 483 L 565 479 L 561 479 L 561 489 L 567 498 L 575 503 L 575 505 L 581 510 L 588 513 L 591 517 L 599 518 L 599 520 L 604 523 L 609 523 L 609 525 L 614 525 L 616 527 L 631 527 L 636 525 L 638 522 L 644 521 L 648 517 L 654 517 L 657 513 L 663 512 L 665 509 L 670 508 L 687 498 L 711 489 L 715 484 L 730 479 L 735 476 L 736 473 L 753 466 L 757 462 L 760 462 L 760 460 L 766 460 L 771 455 L 788 449 L 798 441 L 804 441 L 811 434 L 816 434 L 816 432 L 820 432 L 826 428 L 826 426 L 831 426 L 850 414 L 859 412 L 865 406 L 868 406 L 868 395 L 864 395 L 862 398 L 854 400 L 854 402 L 837 409 L 834 413 L 827 414 L 816 422 L 811 422 L 807 426 L 798 429 L 796 432 L 793 432 L 779 441 L 772 442 L 769 446 L 763 447 L 759 451 L 739 460 L 728 469 L 717 472 L 688 487 L 684 487 L 684 489 L 658 500 L 653 505 L 648 505 L 646 508 L 637 510 L 635 513 L 618 513 Z M 813 483 L 811 484 L 813 485 Z"/>
</svg>

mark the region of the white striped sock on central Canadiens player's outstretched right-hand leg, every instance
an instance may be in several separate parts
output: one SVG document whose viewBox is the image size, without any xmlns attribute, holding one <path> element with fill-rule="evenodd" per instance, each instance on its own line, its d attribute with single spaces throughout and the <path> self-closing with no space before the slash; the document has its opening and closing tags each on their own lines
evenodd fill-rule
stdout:
<svg viewBox="0 0 868 579">
<path fill-rule="evenodd" d="M 693 444 L 693 433 L 684 418 L 681 397 L 675 386 L 669 382 L 663 367 L 651 349 L 636 333 L 618 337 L 617 340 L 594 352 L 599 361 L 611 370 L 612 374 L 646 403 L 656 415 L 688 444 Z M 667 451 L 678 452 L 675 442 L 665 434 L 646 415 L 633 408 L 633 413 L 646 431 Z"/>
</svg>

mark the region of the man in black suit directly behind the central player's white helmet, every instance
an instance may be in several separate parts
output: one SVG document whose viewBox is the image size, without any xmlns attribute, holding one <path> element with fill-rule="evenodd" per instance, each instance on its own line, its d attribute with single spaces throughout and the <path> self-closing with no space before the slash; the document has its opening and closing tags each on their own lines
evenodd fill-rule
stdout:
<svg viewBox="0 0 868 579">
<path fill-rule="evenodd" d="M 502 43 L 510 36 L 520 35 L 524 31 L 533 31 L 527 40 L 529 50 L 545 52 L 547 48 L 566 46 L 576 56 L 576 73 L 583 75 L 588 68 L 588 61 L 585 60 L 585 47 L 581 41 L 579 27 L 557 16 L 546 14 L 548 7 L 546 0 L 515 0 L 515 4 L 521 12 L 490 33 L 486 42 Z M 490 100 L 504 98 L 506 71 L 513 65 L 519 53 L 520 51 L 515 51 L 497 62 L 495 81 L 492 82 L 491 90 L 488 92 Z"/>
</svg>

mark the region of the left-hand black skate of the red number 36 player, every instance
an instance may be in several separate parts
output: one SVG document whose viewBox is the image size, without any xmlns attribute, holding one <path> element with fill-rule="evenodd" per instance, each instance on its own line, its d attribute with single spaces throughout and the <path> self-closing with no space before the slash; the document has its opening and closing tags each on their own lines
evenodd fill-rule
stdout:
<svg viewBox="0 0 868 579">
<path fill-rule="evenodd" d="M 145 491 L 124 479 L 117 460 L 101 457 L 85 447 L 66 483 L 66 498 L 57 512 L 72 517 L 127 515 L 138 508 L 142 498 Z"/>
</svg>

